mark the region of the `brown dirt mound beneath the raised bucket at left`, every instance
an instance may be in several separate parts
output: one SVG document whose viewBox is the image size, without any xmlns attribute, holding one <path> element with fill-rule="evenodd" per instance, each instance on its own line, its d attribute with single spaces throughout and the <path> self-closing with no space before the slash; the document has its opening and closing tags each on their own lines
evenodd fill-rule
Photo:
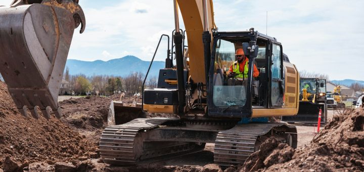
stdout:
<svg viewBox="0 0 364 172">
<path fill-rule="evenodd" d="M 17 111 L 6 84 L 0 82 L 0 167 L 16 162 L 22 164 L 43 161 L 71 161 L 98 155 L 97 145 L 52 117 L 34 119 Z M 30 113 L 29 113 L 30 115 Z M 11 157 L 6 159 L 6 157 Z"/>
</svg>

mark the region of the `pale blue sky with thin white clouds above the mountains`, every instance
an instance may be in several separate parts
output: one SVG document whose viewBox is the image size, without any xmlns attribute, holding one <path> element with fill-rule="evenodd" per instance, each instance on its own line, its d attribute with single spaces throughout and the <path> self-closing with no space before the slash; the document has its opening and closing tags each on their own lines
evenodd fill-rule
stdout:
<svg viewBox="0 0 364 172">
<path fill-rule="evenodd" d="M 0 0 L 0 5 L 11 2 Z M 213 2 L 219 31 L 254 27 L 276 37 L 299 70 L 328 74 L 332 80 L 364 80 L 364 1 Z M 172 4 L 172 0 L 80 0 L 86 30 L 75 32 L 68 58 L 107 61 L 134 55 L 151 60 L 160 35 L 170 35 L 174 27 Z M 165 47 L 164 41 L 157 60 L 165 59 Z"/>
</svg>

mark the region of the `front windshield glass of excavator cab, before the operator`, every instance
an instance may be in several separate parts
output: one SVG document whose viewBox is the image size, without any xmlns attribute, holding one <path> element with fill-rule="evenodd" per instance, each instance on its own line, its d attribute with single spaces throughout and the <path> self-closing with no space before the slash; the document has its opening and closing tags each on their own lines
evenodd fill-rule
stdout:
<svg viewBox="0 0 364 172">
<path fill-rule="evenodd" d="M 215 106 L 244 106 L 246 103 L 246 85 L 239 80 L 241 78 L 228 76 L 230 66 L 236 61 L 235 51 L 241 47 L 241 41 L 217 40 L 213 76 Z"/>
</svg>

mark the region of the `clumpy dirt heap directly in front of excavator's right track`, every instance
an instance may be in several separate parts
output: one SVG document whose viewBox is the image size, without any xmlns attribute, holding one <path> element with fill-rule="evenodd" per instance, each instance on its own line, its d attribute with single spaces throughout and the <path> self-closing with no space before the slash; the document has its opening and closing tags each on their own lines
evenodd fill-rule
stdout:
<svg viewBox="0 0 364 172">
<path fill-rule="evenodd" d="M 271 137 L 264 141 L 260 150 L 251 154 L 238 170 L 256 171 L 277 163 L 287 162 L 292 159 L 293 154 L 294 149 L 292 147 Z"/>
</svg>

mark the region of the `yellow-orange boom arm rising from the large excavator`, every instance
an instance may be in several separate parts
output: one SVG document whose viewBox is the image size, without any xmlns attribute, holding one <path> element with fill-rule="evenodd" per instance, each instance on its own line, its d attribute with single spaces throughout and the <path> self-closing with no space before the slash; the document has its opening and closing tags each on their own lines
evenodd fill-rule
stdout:
<svg viewBox="0 0 364 172">
<path fill-rule="evenodd" d="M 204 52 L 202 43 L 203 14 L 202 0 L 177 0 L 185 23 L 189 46 L 189 75 L 194 82 L 205 83 Z M 214 28 L 212 1 L 207 1 L 209 31 Z"/>
</svg>

